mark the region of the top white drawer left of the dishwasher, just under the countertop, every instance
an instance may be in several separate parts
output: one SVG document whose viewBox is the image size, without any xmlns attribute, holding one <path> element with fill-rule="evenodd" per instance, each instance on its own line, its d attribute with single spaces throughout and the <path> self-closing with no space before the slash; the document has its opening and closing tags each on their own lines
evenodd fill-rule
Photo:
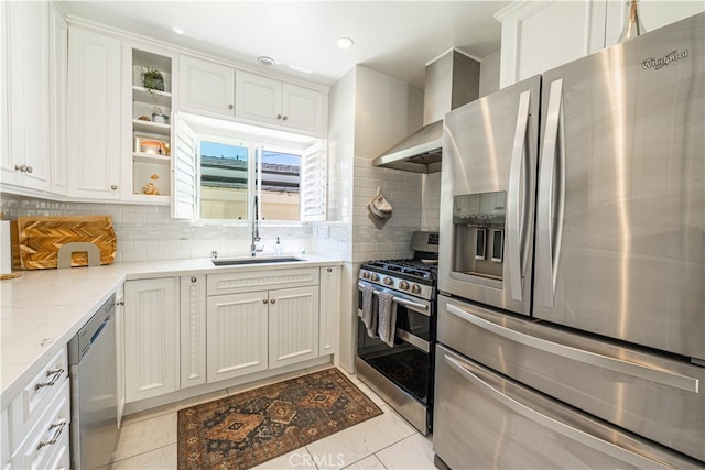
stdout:
<svg viewBox="0 0 705 470">
<path fill-rule="evenodd" d="M 54 400 L 68 376 L 66 348 L 62 349 L 10 404 L 12 445 L 17 446 Z"/>
</svg>

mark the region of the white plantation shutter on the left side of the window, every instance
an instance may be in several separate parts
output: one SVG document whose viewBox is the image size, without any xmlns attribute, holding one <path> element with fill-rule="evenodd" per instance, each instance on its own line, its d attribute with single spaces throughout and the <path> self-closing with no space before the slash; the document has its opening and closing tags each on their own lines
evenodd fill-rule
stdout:
<svg viewBox="0 0 705 470">
<path fill-rule="evenodd" d="M 194 220 L 197 214 L 197 139 L 177 112 L 173 116 L 172 217 Z"/>
</svg>

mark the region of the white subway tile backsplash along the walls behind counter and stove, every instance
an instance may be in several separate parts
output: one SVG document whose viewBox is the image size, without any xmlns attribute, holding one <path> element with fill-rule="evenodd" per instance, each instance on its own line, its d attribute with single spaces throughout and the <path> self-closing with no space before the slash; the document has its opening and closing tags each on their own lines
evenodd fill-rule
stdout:
<svg viewBox="0 0 705 470">
<path fill-rule="evenodd" d="M 272 254 L 276 237 L 284 253 L 339 256 L 345 261 L 406 258 L 414 230 L 437 230 L 440 173 L 420 175 L 377 168 L 368 159 L 356 157 L 354 177 L 343 200 L 337 201 L 338 220 L 313 223 L 262 222 L 264 254 Z M 384 223 L 376 222 L 367 205 L 380 188 L 393 206 Z M 172 219 L 169 206 L 72 203 L 0 194 L 0 210 L 6 219 L 22 216 L 109 215 L 118 239 L 116 261 L 176 260 L 245 256 L 250 250 L 247 223 L 191 222 Z M 336 212 L 337 214 L 337 212 Z"/>
</svg>

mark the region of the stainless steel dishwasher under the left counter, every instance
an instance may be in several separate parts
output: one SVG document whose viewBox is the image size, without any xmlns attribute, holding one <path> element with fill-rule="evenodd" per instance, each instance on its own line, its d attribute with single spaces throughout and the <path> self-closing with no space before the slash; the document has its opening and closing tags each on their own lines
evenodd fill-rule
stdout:
<svg viewBox="0 0 705 470">
<path fill-rule="evenodd" d="M 115 298 L 68 342 L 73 469 L 107 467 L 118 442 Z"/>
</svg>

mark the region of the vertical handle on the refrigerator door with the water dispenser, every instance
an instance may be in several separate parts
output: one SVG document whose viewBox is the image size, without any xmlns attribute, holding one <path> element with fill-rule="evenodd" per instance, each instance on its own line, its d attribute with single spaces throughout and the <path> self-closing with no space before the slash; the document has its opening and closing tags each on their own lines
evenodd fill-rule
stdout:
<svg viewBox="0 0 705 470">
<path fill-rule="evenodd" d="M 511 298 L 521 302 L 522 298 L 522 272 L 523 253 L 520 251 L 524 238 L 524 212 L 527 210 L 527 194 L 529 185 L 524 182 L 524 194 L 520 187 L 522 176 L 525 178 L 527 165 L 527 129 L 529 127 L 529 106 L 531 105 L 531 90 L 525 90 L 519 96 L 519 111 L 517 112 L 517 130 L 511 152 L 509 166 L 509 188 L 507 194 L 507 247 L 509 249 L 509 280 Z"/>
</svg>

